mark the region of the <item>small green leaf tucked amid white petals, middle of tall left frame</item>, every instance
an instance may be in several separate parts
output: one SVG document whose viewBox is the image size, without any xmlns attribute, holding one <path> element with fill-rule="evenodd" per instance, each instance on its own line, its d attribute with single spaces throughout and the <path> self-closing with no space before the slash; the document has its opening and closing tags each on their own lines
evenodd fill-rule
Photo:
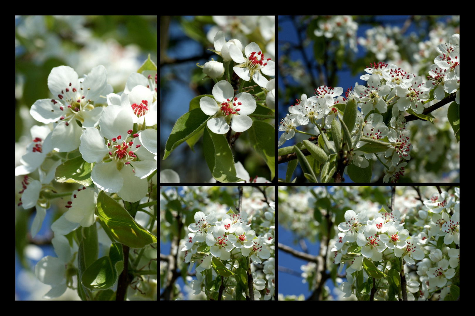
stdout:
<svg viewBox="0 0 475 316">
<path fill-rule="evenodd" d="M 66 160 L 56 168 L 55 177 L 58 182 L 77 182 L 85 187 L 92 184 L 91 170 L 93 164 L 86 163 L 82 156 Z"/>
</svg>

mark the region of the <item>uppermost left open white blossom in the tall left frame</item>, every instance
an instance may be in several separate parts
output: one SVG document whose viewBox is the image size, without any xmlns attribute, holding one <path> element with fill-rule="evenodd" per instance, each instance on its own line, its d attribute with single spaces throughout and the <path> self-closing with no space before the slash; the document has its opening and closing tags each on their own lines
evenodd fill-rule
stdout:
<svg viewBox="0 0 475 316">
<path fill-rule="evenodd" d="M 107 85 L 107 71 L 99 65 L 79 80 L 73 68 L 55 67 L 49 73 L 48 88 L 55 99 L 37 100 L 31 106 L 30 114 L 41 123 L 55 122 L 51 139 L 53 146 L 59 152 L 73 151 L 80 144 L 83 128 L 97 126 L 102 107 L 95 107 L 92 103 L 107 90 L 112 90 Z"/>
</svg>

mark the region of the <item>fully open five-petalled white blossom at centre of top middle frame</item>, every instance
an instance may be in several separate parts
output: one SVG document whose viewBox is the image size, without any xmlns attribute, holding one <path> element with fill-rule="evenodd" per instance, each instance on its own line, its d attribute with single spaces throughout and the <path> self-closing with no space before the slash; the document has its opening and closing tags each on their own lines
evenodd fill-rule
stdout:
<svg viewBox="0 0 475 316">
<path fill-rule="evenodd" d="M 228 133 L 229 126 L 236 132 L 244 132 L 252 126 L 252 119 L 247 115 L 256 110 L 256 100 L 247 93 L 234 96 L 234 89 L 228 81 L 218 81 L 213 87 L 213 97 L 199 99 L 199 107 L 207 115 L 214 115 L 208 120 L 208 128 L 216 134 Z"/>
</svg>

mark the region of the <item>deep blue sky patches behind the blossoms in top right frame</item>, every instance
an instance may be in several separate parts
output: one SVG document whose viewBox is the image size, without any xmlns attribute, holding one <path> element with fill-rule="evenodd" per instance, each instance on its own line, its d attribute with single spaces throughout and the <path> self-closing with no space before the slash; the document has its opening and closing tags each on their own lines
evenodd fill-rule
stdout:
<svg viewBox="0 0 475 316">
<path fill-rule="evenodd" d="M 389 25 L 391 27 L 394 27 L 394 26 L 403 27 L 404 23 L 408 20 L 408 17 L 409 16 L 377 16 L 375 18 L 375 20 L 377 22 L 380 22 L 383 26 Z M 446 18 L 447 17 L 441 16 L 441 17 L 438 17 L 437 20 L 444 21 Z M 368 24 L 360 24 L 358 26 L 358 31 L 357 31 L 356 37 L 358 38 L 359 36 L 365 36 L 366 30 L 368 30 L 371 27 L 372 26 L 370 26 Z M 421 27 L 419 27 L 419 28 L 416 28 L 415 23 L 411 23 L 410 27 L 404 33 L 404 36 L 407 36 L 410 33 L 416 32 L 418 30 L 424 30 L 425 27 L 426 27 L 425 23 L 421 23 Z M 426 36 L 426 37 L 428 38 L 428 36 Z M 298 45 L 297 38 L 298 38 L 297 30 L 295 28 L 294 23 L 292 22 L 292 19 L 290 19 L 286 16 L 279 16 L 278 54 L 279 55 L 281 54 L 282 48 L 285 47 L 285 45 L 287 45 L 287 43 L 290 43 L 291 45 Z M 308 59 L 312 59 L 313 56 L 314 56 L 313 43 L 310 42 L 310 43 L 306 43 L 306 44 L 308 44 L 308 45 L 306 45 L 305 48 L 304 48 L 305 54 L 306 54 Z M 364 48 L 362 46 L 358 45 L 358 53 L 356 53 L 356 58 L 362 57 L 365 54 L 366 54 L 366 51 L 364 50 Z M 293 50 L 289 57 L 292 61 L 303 60 L 303 56 L 302 56 L 301 52 L 297 51 L 297 50 Z M 375 62 L 378 63 L 379 61 L 375 60 Z M 343 68 L 346 68 L 345 65 L 343 65 Z M 314 69 L 313 72 L 314 72 L 314 77 L 318 78 L 319 73 L 317 72 L 317 70 Z M 352 76 L 349 70 L 338 71 L 337 72 L 337 74 L 338 74 L 338 84 L 336 86 L 337 87 L 342 87 L 343 88 L 343 93 L 344 93 L 344 91 L 346 91 L 348 88 L 354 87 L 355 82 L 358 82 L 358 84 L 365 84 L 366 81 L 363 81 L 363 80 L 360 79 L 360 76 L 365 74 L 365 73 L 366 72 L 364 72 L 364 70 L 361 69 L 361 73 L 357 73 L 355 76 Z M 279 72 L 278 73 L 279 89 L 284 88 L 284 85 L 282 83 L 283 79 L 284 78 L 281 77 L 281 73 Z M 294 85 L 294 86 L 299 85 L 290 76 L 286 76 L 285 80 L 287 82 L 289 82 L 290 85 Z M 317 87 L 314 87 L 314 88 L 317 88 Z M 282 90 L 281 90 L 281 92 L 282 92 Z M 311 97 L 311 96 L 313 96 L 314 90 L 305 91 L 304 93 L 307 95 L 307 97 Z M 286 113 L 288 113 L 288 107 L 290 105 L 292 105 L 293 103 L 295 103 L 295 99 L 300 99 L 300 96 L 301 96 L 300 94 L 293 96 L 293 98 L 291 99 L 292 101 L 291 101 L 290 104 L 288 102 L 285 103 L 284 100 L 282 100 L 282 99 L 279 99 L 278 114 L 277 114 L 277 116 L 279 117 L 279 122 L 280 122 L 280 119 L 285 117 Z M 278 137 L 280 137 L 280 135 L 282 133 L 284 133 L 284 132 L 278 132 L 277 133 L 278 134 L 277 139 L 278 139 Z M 295 143 L 296 143 L 295 138 L 293 138 L 289 141 L 286 141 L 285 144 L 282 145 L 282 147 L 292 146 Z M 281 163 L 281 164 L 278 165 L 278 177 L 279 178 L 285 179 L 286 169 L 287 169 L 287 163 Z M 299 168 L 297 168 L 297 169 L 299 169 Z M 294 173 L 294 177 L 295 177 L 295 173 Z M 345 182 L 352 182 L 347 175 L 345 175 L 344 178 L 345 178 Z"/>
</svg>

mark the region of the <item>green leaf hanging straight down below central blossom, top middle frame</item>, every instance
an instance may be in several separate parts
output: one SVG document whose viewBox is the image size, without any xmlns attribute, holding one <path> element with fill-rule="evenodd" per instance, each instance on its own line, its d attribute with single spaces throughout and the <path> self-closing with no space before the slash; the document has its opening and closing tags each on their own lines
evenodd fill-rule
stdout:
<svg viewBox="0 0 475 316">
<path fill-rule="evenodd" d="M 213 178 L 220 182 L 244 181 L 236 177 L 234 158 L 226 136 L 211 132 L 208 126 L 203 134 L 203 153 Z"/>
</svg>

